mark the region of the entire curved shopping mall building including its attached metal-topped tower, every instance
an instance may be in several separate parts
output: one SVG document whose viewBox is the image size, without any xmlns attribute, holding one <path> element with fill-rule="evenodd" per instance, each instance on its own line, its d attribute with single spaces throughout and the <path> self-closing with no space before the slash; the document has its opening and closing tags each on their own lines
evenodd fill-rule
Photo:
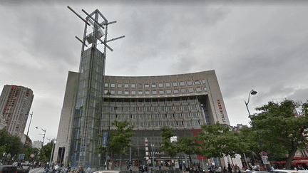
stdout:
<svg viewBox="0 0 308 173">
<path fill-rule="evenodd" d="M 98 134 L 115 128 L 114 120 L 128 120 L 134 127 L 133 147 L 125 159 L 145 159 L 147 138 L 152 151 L 149 157 L 160 162 L 170 159 L 159 150 L 161 127 L 173 127 L 180 138 L 197 135 L 200 125 L 230 125 L 214 70 L 162 76 L 105 75 L 107 48 L 113 51 L 107 42 L 124 36 L 107 39 L 107 26 L 116 21 L 109 22 L 98 9 L 83 21 L 83 38 L 78 38 L 83 45 L 79 71 L 68 73 L 53 161 L 103 167 L 108 156 L 96 153 L 102 140 Z"/>
</svg>

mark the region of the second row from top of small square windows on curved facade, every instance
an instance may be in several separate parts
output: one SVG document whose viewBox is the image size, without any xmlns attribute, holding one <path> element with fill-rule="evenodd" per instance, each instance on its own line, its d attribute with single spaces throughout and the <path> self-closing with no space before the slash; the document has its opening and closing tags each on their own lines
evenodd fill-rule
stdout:
<svg viewBox="0 0 308 173">
<path fill-rule="evenodd" d="M 204 91 L 207 91 L 207 88 L 203 88 Z M 104 90 L 104 93 L 107 94 L 109 90 Z M 202 92 L 202 88 L 181 88 L 181 89 L 170 89 L 170 90 L 110 90 L 111 95 L 165 95 L 165 94 L 179 94 L 179 93 L 195 93 L 195 92 Z"/>
</svg>

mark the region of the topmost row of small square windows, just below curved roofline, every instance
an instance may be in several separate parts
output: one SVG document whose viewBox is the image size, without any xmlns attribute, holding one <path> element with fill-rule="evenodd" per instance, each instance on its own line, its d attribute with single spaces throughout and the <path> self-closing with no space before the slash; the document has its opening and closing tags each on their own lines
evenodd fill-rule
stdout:
<svg viewBox="0 0 308 173">
<path fill-rule="evenodd" d="M 205 80 L 202 79 L 202 84 L 205 84 Z M 177 86 L 185 86 L 188 85 L 200 85 L 200 80 L 190 80 L 190 81 L 185 81 L 185 82 L 173 82 L 173 83 L 124 83 L 124 85 L 122 83 L 105 83 L 104 87 L 105 88 L 163 88 L 164 86 L 165 87 L 171 87 L 171 85 L 173 85 L 173 87 L 177 87 Z"/>
</svg>

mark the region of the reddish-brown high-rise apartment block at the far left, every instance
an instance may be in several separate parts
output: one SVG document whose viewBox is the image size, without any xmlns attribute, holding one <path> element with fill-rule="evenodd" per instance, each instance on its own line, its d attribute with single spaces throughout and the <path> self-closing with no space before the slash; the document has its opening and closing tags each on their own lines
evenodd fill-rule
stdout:
<svg viewBox="0 0 308 173">
<path fill-rule="evenodd" d="M 4 85 L 0 96 L 0 115 L 4 116 L 6 130 L 11 135 L 24 133 L 33 98 L 30 88 Z"/>
</svg>

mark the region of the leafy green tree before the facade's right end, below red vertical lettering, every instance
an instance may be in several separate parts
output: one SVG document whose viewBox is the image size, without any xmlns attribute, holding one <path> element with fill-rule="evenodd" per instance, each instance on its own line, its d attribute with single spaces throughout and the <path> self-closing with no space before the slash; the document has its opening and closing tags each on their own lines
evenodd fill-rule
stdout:
<svg viewBox="0 0 308 173">
<path fill-rule="evenodd" d="M 247 145 L 241 140 L 240 133 L 230 131 L 230 127 L 219 124 L 202 125 L 202 132 L 195 136 L 197 140 L 203 140 L 197 145 L 201 147 L 200 152 L 204 157 L 223 157 L 242 153 Z"/>
</svg>

